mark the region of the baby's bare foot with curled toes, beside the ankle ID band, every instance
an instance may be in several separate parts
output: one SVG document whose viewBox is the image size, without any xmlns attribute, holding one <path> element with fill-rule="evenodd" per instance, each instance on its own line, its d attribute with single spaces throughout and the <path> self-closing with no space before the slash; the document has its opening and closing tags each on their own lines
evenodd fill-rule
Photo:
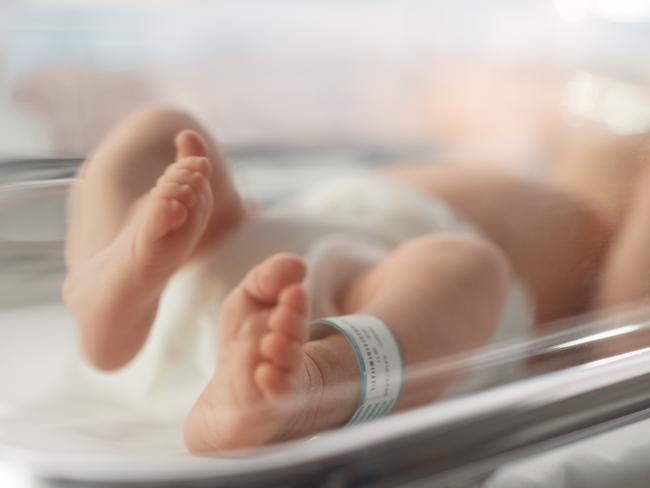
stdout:
<svg viewBox="0 0 650 488">
<path fill-rule="evenodd" d="M 192 452 L 257 446 L 296 435 L 313 403 L 303 262 L 275 255 L 253 269 L 224 302 L 214 377 L 185 423 Z M 313 383 L 313 380 L 311 380 Z M 322 385 L 320 385 L 322 388 Z M 305 395 L 306 396 L 306 395 Z M 296 401 L 297 400 L 297 401 Z"/>
</svg>

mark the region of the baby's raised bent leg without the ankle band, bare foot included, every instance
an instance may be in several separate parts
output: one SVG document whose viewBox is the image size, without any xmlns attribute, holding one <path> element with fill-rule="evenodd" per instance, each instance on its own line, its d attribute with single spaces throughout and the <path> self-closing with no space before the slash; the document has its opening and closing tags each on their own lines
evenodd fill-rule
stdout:
<svg viewBox="0 0 650 488">
<path fill-rule="evenodd" d="M 118 368 L 137 353 L 167 279 L 242 216 L 227 168 L 200 130 L 180 112 L 138 112 L 74 183 L 63 297 L 99 368 Z"/>
</svg>

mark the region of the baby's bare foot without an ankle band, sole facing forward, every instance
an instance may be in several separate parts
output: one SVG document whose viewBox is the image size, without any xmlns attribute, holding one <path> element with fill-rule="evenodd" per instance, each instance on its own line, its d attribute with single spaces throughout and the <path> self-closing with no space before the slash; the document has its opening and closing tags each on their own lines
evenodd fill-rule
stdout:
<svg viewBox="0 0 650 488">
<path fill-rule="evenodd" d="M 194 251 L 211 216 L 211 171 L 205 157 L 170 165 L 115 240 L 71 270 L 64 300 L 96 367 L 121 367 L 144 344 L 163 287 Z"/>
</svg>

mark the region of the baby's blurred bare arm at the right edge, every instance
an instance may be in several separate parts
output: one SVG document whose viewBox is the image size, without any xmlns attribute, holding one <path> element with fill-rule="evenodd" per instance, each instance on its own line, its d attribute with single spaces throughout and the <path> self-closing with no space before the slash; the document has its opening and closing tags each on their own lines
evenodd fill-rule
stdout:
<svg viewBox="0 0 650 488">
<path fill-rule="evenodd" d="M 583 144 L 560 161 L 554 181 L 601 210 L 616 230 L 598 279 L 601 316 L 650 301 L 650 136 L 610 136 Z M 595 358 L 650 346 L 640 331 L 595 343 Z"/>
</svg>

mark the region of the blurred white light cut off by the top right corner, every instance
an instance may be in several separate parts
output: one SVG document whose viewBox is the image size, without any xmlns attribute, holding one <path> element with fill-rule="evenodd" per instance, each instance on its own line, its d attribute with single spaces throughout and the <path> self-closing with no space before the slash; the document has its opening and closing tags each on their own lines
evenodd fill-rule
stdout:
<svg viewBox="0 0 650 488">
<path fill-rule="evenodd" d="M 566 22 L 580 22 L 587 16 L 614 22 L 650 20 L 648 0 L 554 0 L 555 10 Z"/>
</svg>

